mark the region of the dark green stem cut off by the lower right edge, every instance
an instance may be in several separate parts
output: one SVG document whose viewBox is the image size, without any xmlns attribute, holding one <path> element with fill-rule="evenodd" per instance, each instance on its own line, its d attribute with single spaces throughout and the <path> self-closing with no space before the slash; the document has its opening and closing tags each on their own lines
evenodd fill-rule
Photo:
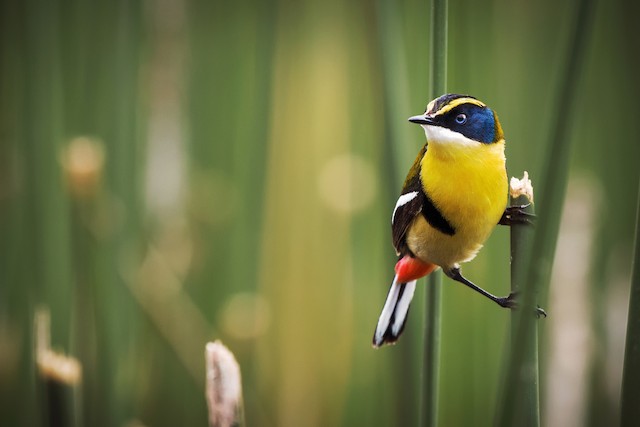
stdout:
<svg viewBox="0 0 640 427">
<path fill-rule="evenodd" d="M 633 251 L 633 272 L 627 320 L 627 339 L 622 372 L 620 425 L 631 427 L 640 419 L 640 186 L 636 210 L 636 235 Z"/>
</svg>

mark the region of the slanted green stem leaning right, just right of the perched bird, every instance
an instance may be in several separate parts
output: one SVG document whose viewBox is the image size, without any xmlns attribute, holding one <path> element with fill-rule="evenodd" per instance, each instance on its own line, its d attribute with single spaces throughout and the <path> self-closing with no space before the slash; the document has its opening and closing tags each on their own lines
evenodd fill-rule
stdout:
<svg viewBox="0 0 640 427">
<path fill-rule="evenodd" d="M 522 282 L 521 310 L 513 315 L 514 340 L 512 352 L 507 361 L 502 387 L 502 398 L 497 413 L 498 426 L 526 425 L 527 414 L 517 410 L 517 402 L 522 398 L 520 377 L 522 375 L 526 354 L 529 351 L 526 343 L 535 334 L 536 318 L 533 315 L 538 293 L 546 293 L 545 286 L 549 282 L 551 266 L 555 254 L 555 245 L 560 227 L 562 200 L 566 192 L 568 179 L 571 138 L 569 125 L 571 111 L 574 110 L 576 91 L 580 79 L 580 69 L 585 56 L 594 12 L 593 0 L 581 0 L 578 3 L 576 24 L 571 34 L 568 47 L 568 60 L 562 71 L 556 111 L 553 115 L 552 134 L 544 161 L 545 170 L 541 174 L 538 193 L 539 220 L 533 238 L 532 256 L 523 260 L 520 266 L 526 272 Z"/>
</svg>

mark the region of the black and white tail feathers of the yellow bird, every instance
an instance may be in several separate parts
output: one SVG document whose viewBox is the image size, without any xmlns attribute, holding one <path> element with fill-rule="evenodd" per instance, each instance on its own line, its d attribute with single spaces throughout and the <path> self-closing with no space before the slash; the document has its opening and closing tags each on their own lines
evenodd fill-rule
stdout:
<svg viewBox="0 0 640 427">
<path fill-rule="evenodd" d="M 373 346 L 393 344 L 404 330 L 404 323 L 409 314 L 409 305 L 416 290 L 416 281 L 398 283 L 398 276 L 393 278 L 389 295 L 380 313 L 376 332 L 373 334 Z"/>
</svg>

